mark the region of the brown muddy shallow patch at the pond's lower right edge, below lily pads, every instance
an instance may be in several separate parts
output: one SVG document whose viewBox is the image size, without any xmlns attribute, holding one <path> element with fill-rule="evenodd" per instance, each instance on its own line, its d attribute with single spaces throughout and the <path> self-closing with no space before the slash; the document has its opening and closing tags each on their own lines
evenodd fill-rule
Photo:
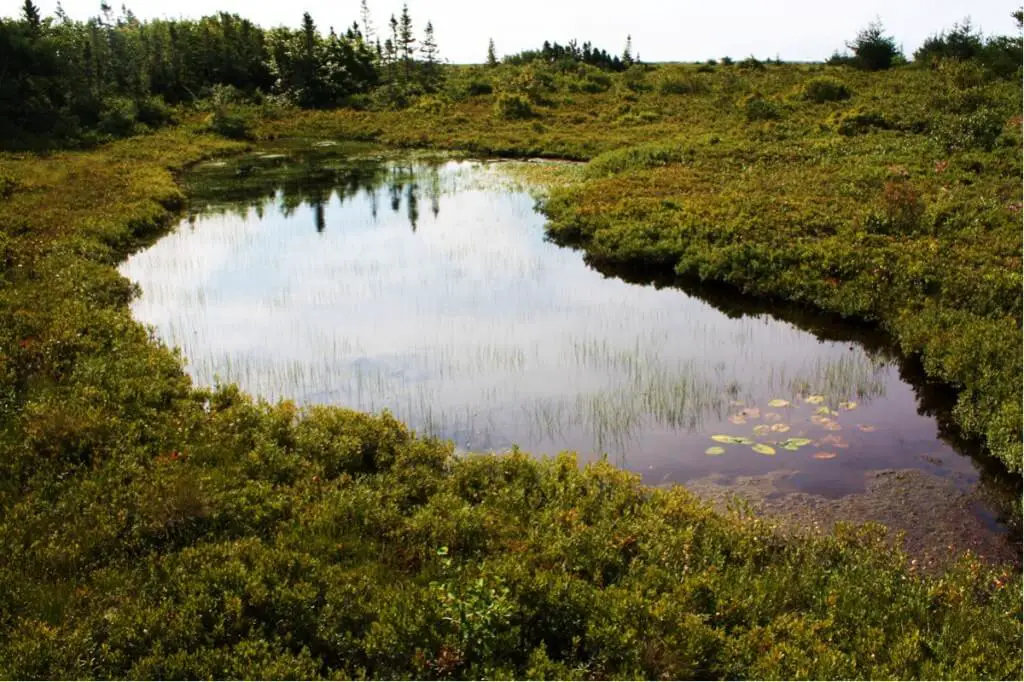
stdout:
<svg viewBox="0 0 1024 682">
<path fill-rule="evenodd" d="M 782 532 L 824 532 L 838 521 L 885 524 L 915 568 L 936 570 L 970 551 L 993 563 L 1021 565 L 1020 538 L 994 522 L 975 489 L 916 469 L 882 469 L 865 474 L 865 491 L 826 498 L 786 489 L 795 471 L 688 481 L 694 494 L 724 510 L 736 502 L 778 524 Z"/>
</svg>

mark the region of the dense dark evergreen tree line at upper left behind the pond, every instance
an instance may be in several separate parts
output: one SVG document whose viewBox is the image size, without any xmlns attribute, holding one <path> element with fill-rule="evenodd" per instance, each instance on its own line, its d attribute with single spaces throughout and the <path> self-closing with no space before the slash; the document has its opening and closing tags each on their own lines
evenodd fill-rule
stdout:
<svg viewBox="0 0 1024 682">
<path fill-rule="evenodd" d="M 227 12 L 139 20 L 103 2 L 78 22 L 59 4 L 44 18 L 25 0 L 19 17 L 0 19 L 0 136 L 126 134 L 216 88 L 305 108 L 344 105 L 381 86 L 408 97 L 436 90 L 439 66 L 433 25 L 419 34 L 408 6 L 377 35 L 365 0 L 360 22 L 326 34 L 308 12 L 298 29 L 262 29 Z"/>
</svg>

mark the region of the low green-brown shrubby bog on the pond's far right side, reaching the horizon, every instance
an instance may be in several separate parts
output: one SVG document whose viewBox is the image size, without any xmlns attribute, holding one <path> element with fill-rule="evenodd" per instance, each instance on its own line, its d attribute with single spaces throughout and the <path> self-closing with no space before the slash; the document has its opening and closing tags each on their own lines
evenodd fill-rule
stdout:
<svg viewBox="0 0 1024 682">
<path fill-rule="evenodd" d="M 556 240 L 595 264 L 877 323 L 959 390 L 965 432 L 1021 470 L 1019 80 L 962 62 L 676 66 L 600 82 L 502 70 L 461 74 L 498 94 L 309 113 L 261 134 L 590 160 L 545 206 Z M 529 115 L 503 117 L 503 91 L 534 101 Z"/>
</svg>

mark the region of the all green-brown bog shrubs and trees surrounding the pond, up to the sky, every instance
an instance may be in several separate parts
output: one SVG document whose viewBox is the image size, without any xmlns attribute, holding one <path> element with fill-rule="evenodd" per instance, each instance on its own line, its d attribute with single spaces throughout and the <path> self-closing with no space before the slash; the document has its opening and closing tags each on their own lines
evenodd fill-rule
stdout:
<svg viewBox="0 0 1024 682">
<path fill-rule="evenodd" d="M 186 201 L 174 172 L 246 143 L 211 131 L 589 160 L 555 239 L 881 325 L 1020 471 L 1019 37 L 900 65 L 874 27 L 835 66 L 431 41 L 408 11 L 0 24 L 5 143 L 133 135 L 0 156 L 0 676 L 1019 678 L 1019 573 L 196 389 L 115 270 Z"/>
</svg>

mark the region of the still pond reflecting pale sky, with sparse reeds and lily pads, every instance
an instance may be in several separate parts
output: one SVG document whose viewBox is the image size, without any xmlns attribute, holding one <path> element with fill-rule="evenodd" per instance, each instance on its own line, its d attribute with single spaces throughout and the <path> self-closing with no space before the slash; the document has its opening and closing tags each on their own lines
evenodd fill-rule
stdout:
<svg viewBox="0 0 1024 682">
<path fill-rule="evenodd" d="M 121 268 L 134 314 L 198 384 L 389 410 L 460 451 L 607 456 L 651 484 L 775 476 L 767 499 L 864 493 L 880 470 L 975 495 L 978 462 L 884 343 L 602 274 L 545 239 L 538 166 L 327 143 L 207 163 L 187 218 Z M 982 498 L 971 531 L 999 536 Z"/>
</svg>

